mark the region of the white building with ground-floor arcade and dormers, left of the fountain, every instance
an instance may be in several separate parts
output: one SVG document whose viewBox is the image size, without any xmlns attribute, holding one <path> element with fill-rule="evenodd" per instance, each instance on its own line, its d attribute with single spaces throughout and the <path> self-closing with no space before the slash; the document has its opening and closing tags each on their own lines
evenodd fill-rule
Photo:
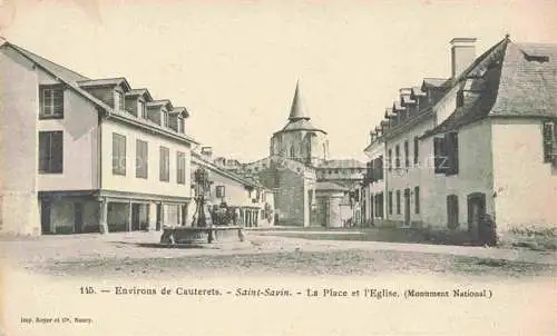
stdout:
<svg viewBox="0 0 557 336">
<path fill-rule="evenodd" d="M 126 78 L 90 79 L 0 46 L 0 230 L 62 234 L 184 224 L 186 108 Z"/>
</svg>

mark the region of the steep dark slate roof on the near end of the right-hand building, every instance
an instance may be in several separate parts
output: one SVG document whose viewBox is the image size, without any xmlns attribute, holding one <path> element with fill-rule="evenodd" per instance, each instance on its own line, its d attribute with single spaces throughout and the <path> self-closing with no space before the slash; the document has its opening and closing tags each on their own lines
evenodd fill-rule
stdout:
<svg viewBox="0 0 557 336">
<path fill-rule="evenodd" d="M 557 45 L 505 39 L 463 75 L 458 85 L 471 99 L 424 137 L 487 117 L 557 117 Z"/>
</svg>

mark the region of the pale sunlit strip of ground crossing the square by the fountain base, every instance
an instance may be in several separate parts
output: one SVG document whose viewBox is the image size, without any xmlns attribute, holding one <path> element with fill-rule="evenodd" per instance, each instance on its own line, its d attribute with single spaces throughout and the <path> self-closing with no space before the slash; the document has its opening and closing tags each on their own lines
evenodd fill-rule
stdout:
<svg viewBox="0 0 557 336">
<path fill-rule="evenodd" d="M 282 234 L 287 230 L 281 230 Z M 315 231 L 314 235 L 321 235 Z M 450 246 L 431 244 L 403 244 L 385 241 L 303 239 L 273 236 L 272 231 L 247 231 L 246 241 L 206 245 L 201 248 L 166 248 L 158 245 L 160 233 L 135 231 L 108 235 L 82 234 L 65 236 L 41 236 L 32 238 L 13 237 L 0 241 L 0 259 L 18 263 L 41 263 L 52 259 L 96 258 L 173 258 L 185 256 L 218 256 L 236 254 L 261 254 L 278 251 L 334 251 L 362 249 L 368 251 L 399 251 L 466 256 L 516 263 L 557 265 L 555 251 L 537 251 L 526 248 L 491 248 L 477 246 Z M 312 231 L 304 231 L 312 235 Z"/>
</svg>

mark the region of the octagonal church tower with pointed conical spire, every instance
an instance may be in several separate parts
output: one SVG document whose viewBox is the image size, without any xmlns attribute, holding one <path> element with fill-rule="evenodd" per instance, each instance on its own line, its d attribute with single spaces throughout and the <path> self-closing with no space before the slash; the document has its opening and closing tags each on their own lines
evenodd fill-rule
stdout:
<svg viewBox="0 0 557 336">
<path fill-rule="evenodd" d="M 312 125 L 300 92 L 300 81 L 296 82 L 286 126 L 271 137 L 271 156 L 311 166 L 329 158 L 326 132 Z"/>
</svg>

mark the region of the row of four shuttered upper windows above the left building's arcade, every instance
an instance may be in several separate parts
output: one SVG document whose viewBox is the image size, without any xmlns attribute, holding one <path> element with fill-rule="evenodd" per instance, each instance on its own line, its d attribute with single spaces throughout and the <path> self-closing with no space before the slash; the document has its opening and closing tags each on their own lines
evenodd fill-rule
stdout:
<svg viewBox="0 0 557 336">
<path fill-rule="evenodd" d="M 160 181 L 170 181 L 170 150 L 168 147 L 159 146 L 159 176 Z M 126 176 L 126 136 L 113 132 L 113 174 Z M 136 178 L 147 179 L 149 176 L 148 144 L 136 139 Z M 186 184 L 186 155 L 176 151 L 176 182 Z"/>
</svg>

